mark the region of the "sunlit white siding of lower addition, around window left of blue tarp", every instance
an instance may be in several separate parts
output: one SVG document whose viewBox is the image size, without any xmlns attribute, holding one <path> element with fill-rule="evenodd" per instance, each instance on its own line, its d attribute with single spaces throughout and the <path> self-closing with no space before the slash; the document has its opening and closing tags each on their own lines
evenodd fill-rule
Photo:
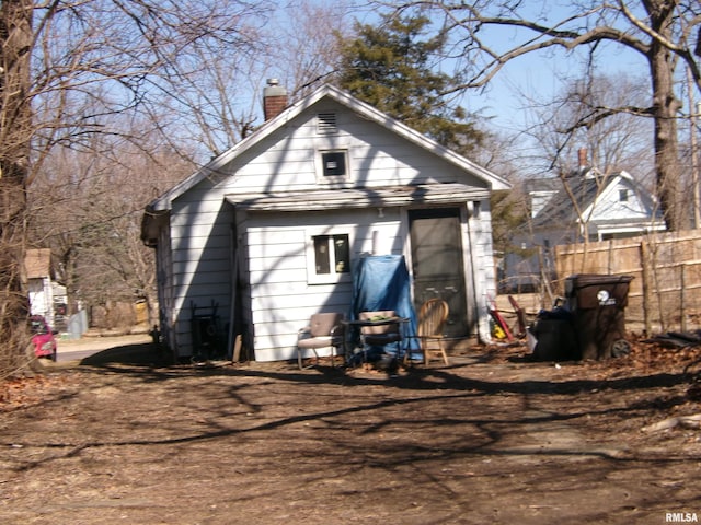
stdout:
<svg viewBox="0 0 701 525">
<path fill-rule="evenodd" d="M 251 213 L 246 221 L 251 315 L 255 358 L 292 359 L 297 332 L 312 314 L 348 314 L 353 300 L 350 273 L 337 283 L 310 284 L 307 242 L 319 232 L 348 233 L 352 268 L 372 250 L 372 232 L 381 234 L 382 254 L 401 254 L 399 210 L 378 218 L 376 209 L 327 213 Z M 377 221 L 382 222 L 377 222 Z M 324 353 L 324 352 L 320 352 Z"/>
</svg>

